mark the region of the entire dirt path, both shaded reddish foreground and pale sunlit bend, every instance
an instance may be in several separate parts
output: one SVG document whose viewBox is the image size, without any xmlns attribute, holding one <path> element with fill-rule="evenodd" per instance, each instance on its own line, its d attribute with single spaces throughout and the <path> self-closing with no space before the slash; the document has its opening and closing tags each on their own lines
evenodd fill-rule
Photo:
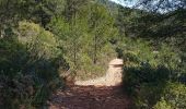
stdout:
<svg viewBox="0 0 186 109">
<path fill-rule="evenodd" d="M 58 89 L 49 100 L 49 109 L 131 109 L 132 101 L 120 84 L 121 64 L 115 59 L 105 76 Z"/>
</svg>

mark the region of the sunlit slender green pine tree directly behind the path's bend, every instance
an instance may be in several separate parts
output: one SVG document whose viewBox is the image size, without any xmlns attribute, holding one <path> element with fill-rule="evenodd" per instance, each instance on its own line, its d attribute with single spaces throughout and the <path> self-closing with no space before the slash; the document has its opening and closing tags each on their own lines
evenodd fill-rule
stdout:
<svg viewBox="0 0 186 109">
<path fill-rule="evenodd" d="M 111 39 L 113 34 L 114 20 L 105 8 L 94 4 L 91 7 L 90 31 L 93 35 L 93 61 L 97 62 L 98 53 Z"/>
</svg>

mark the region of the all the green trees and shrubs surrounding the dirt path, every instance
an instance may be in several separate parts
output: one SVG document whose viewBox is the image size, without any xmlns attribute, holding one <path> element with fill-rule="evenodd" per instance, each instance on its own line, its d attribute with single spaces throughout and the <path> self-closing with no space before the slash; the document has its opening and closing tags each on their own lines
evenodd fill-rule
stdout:
<svg viewBox="0 0 186 109">
<path fill-rule="evenodd" d="M 101 76 L 117 52 L 138 108 L 185 108 L 184 16 L 105 0 L 0 0 L 0 107 L 42 108 L 58 72 Z"/>
</svg>

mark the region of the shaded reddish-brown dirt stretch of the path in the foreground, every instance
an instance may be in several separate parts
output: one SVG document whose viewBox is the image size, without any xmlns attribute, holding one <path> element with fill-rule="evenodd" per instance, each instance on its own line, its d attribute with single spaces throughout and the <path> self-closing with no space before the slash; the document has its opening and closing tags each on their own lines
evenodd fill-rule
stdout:
<svg viewBox="0 0 186 109">
<path fill-rule="evenodd" d="M 49 109 L 132 109 L 120 86 L 69 86 L 53 95 Z"/>
</svg>

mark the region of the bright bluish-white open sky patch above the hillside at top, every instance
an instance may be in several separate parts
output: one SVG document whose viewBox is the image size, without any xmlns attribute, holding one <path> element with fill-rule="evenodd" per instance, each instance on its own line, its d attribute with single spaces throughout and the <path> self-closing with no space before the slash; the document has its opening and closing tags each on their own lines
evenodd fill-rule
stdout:
<svg viewBox="0 0 186 109">
<path fill-rule="evenodd" d="M 116 2 L 116 3 L 119 3 L 119 4 L 121 4 L 121 5 L 124 5 L 124 7 L 132 7 L 136 2 L 137 2 L 137 0 L 111 0 L 111 1 L 114 1 L 114 2 Z"/>
</svg>

